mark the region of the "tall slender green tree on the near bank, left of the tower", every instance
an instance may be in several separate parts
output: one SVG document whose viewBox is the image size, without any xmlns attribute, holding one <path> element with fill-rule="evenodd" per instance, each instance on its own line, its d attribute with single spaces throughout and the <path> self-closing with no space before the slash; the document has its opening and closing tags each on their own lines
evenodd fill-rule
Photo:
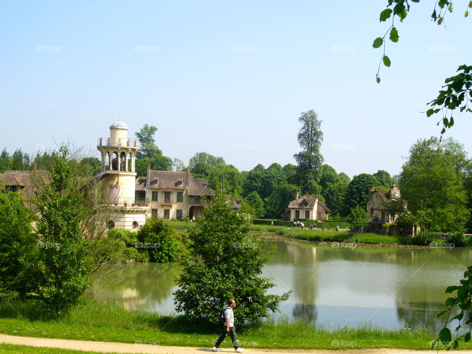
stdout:
<svg viewBox="0 0 472 354">
<path fill-rule="evenodd" d="M 53 316 L 63 315 L 89 287 L 89 241 L 81 231 L 87 208 L 72 184 L 73 170 L 62 146 L 51 169 L 52 181 L 34 201 L 38 256 L 34 297 Z"/>
</svg>

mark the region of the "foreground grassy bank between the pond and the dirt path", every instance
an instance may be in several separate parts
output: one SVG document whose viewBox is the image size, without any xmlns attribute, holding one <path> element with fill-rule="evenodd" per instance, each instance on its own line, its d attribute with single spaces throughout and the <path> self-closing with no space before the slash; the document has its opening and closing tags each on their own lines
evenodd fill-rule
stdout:
<svg viewBox="0 0 472 354">
<path fill-rule="evenodd" d="M 303 321 L 236 325 L 243 348 L 426 350 L 435 337 L 424 329 L 387 330 L 370 326 L 333 329 Z M 128 311 L 118 304 L 104 305 L 86 299 L 59 320 L 44 318 L 32 302 L 0 303 L 0 332 L 11 335 L 211 348 L 220 330 L 216 319 L 213 323 L 194 323 L 181 316 Z M 230 348 L 230 341 L 221 347 Z M 461 344 L 460 348 L 472 349 L 472 344 Z"/>
</svg>

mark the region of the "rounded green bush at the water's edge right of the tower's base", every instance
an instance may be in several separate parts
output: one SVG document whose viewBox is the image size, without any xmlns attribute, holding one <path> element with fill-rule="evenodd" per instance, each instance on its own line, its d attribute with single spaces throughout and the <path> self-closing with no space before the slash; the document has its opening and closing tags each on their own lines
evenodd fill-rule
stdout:
<svg viewBox="0 0 472 354">
<path fill-rule="evenodd" d="M 136 247 L 147 252 L 151 262 L 176 262 L 179 249 L 177 231 L 169 221 L 153 217 L 139 229 Z"/>
</svg>

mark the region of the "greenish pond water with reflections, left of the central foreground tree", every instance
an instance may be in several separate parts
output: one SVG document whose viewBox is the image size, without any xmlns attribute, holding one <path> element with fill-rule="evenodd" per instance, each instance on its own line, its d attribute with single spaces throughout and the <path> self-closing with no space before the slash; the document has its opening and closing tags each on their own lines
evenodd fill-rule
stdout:
<svg viewBox="0 0 472 354">
<path fill-rule="evenodd" d="M 171 296 L 178 272 L 176 263 L 136 264 L 95 279 L 87 293 L 97 301 L 117 300 L 129 308 L 152 306 Z"/>
</svg>

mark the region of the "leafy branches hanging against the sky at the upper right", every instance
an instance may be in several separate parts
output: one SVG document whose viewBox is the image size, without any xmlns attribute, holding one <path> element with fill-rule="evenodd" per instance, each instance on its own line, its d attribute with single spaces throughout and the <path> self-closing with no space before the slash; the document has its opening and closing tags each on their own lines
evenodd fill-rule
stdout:
<svg viewBox="0 0 472 354">
<path fill-rule="evenodd" d="M 412 2 L 419 2 L 419 0 L 412 0 Z M 393 4 L 393 9 L 388 8 Z M 437 8 L 437 6 L 439 6 L 439 8 Z M 472 2 L 469 2 L 468 7 L 472 8 Z M 400 36 L 398 34 L 398 29 L 395 27 L 395 18 L 398 17 L 400 22 L 403 22 L 409 11 L 410 4 L 408 3 L 408 0 L 388 0 L 387 8 L 380 13 L 380 21 L 386 21 L 391 17 L 392 25 L 385 32 L 383 37 L 377 37 L 372 44 L 374 48 L 380 48 L 383 46 L 383 55 L 376 75 L 377 83 L 380 83 L 379 72 L 382 63 L 388 67 L 391 64 L 390 58 L 385 55 L 385 36 L 390 33 L 389 39 L 392 42 L 398 42 Z M 452 1 L 439 0 L 435 2 L 431 18 L 438 25 L 442 25 L 447 13 L 452 11 Z M 468 9 L 464 13 L 464 16 L 469 16 Z M 431 117 L 439 112 L 442 113 L 442 119 L 438 122 L 438 125 L 442 123 L 441 134 L 445 133 L 446 128 L 450 128 L 454 125 L 452 111 L 456 108 L 459 108 L 461 112 L 472 112 L 471 107 L 468 105 L 472 99 L 472 66 L 460 65 L 456 72 L 458 72 L 457 75 L 451 76 L 444 81 L 445 85 L 442 87 L 442 90 L 439 91 L 438 97 L 428 103 L 431 108 L 426 111 L 427 117 Z"/>
</svg>

